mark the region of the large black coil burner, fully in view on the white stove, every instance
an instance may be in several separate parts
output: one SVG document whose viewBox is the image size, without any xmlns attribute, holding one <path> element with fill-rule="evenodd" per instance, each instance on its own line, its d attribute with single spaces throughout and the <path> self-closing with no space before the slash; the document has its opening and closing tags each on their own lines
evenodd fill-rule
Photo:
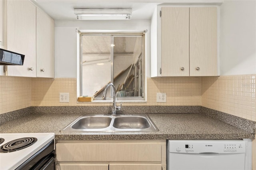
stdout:
<svg viewBox="0 0 256 170">
<path fill-rule="evenodd" d="M 18 138 L 2 145 L 0 148 L 0 152 L 8 153 L 8 152 L 21 150 L 21 149 L 27 148 L 28 146 L 31 146 L 36 141 L 37 141 L 37 138 L 33 138 L 33 137 Z"/>
</svg>

